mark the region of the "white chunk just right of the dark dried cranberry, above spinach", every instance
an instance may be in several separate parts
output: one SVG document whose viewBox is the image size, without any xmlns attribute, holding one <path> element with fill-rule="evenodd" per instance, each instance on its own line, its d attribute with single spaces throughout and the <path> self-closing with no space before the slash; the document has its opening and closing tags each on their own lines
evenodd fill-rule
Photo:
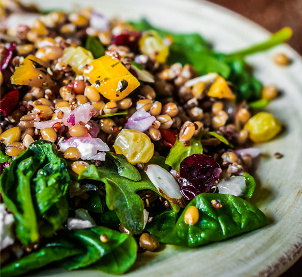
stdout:
<svg viewBox="0 0 302 277">
<path fill-rule="evenodd" d="M 241 197 L 246 189 L 245 178 L 243 176 L 224 178 L 217 185 L 217 188 L 219 189 L 219 193 Z"/>
</svg>

